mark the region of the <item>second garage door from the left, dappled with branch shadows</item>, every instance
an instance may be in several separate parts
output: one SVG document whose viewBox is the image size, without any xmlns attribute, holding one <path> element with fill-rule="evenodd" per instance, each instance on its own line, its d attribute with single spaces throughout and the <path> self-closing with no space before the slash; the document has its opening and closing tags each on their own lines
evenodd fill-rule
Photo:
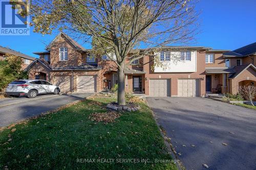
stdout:
<svg viewBox="0 0 256 170">
<path fill-rule="evenodd" d="M 78 76 L 77 92 L 95 92 L 95 77 L 94 76 Z"/>
</svg>

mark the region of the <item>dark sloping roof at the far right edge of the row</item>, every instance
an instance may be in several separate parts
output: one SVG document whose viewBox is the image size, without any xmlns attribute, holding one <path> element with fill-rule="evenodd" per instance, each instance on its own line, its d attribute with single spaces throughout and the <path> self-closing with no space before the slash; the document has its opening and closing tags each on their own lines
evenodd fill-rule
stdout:
<svg viewBox="0 0 256 170">
<path fill-rule="evenodd" d="M 237 50 L 233 50 L 231 52 L 224 53 L 223 56 L 226 57 L 245 57 L 251 54 L 256 53 L 256 42 L 251 43 L 249 45 L 245 45 Z"/>
</svg>

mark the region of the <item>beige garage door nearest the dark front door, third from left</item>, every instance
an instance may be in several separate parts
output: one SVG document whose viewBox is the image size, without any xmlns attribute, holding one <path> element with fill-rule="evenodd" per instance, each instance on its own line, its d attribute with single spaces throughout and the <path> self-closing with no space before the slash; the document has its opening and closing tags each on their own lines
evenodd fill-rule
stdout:
<svg viewBox="0 0 256 170">
<path fill-rule="evenodd" d="M 150 95 L 170 96 L 170 79 L 150 79 Z"/>
</svg>

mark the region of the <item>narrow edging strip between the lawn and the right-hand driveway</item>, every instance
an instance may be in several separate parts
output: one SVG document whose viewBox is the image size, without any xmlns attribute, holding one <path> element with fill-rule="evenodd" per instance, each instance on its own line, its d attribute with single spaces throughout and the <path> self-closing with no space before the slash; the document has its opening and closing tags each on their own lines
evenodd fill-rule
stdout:
<svg viewBox="0 0 256 170">
<path fill-rule="evenodd" d="M 147 100 L 145 100 L 145 101 L 146 101 L 147 106 L 152 110 L 152 108 L 151 108 L 150 105 L 148 104 Z M 178 168 L 179 170 L 183 170 L 184 168 L 182 169 L 181 166 L 180 166 L 180 162 L 181 162 L 181 161 L 180 161 L 180 159 L 178 159 L 177 155 L 173 152 L 172 147 L 170 147 L 170 146 L 172 145 L 172 143 L 170 143 L 169 141 L 166 140 L 166 138 L 168 138 L 168 137 L 164 135 L 162 129 L 160 128 L 160 124 L 158 123 L 157 118 L 156 118 L 156 116 L 155 116 L 155 112 L 154 112 L 153 110 L 152 110 L 152 115 L 153 115 L 154 120 L 155 120 L 155 122 L 156 122 L 156 124 L 157 124 L 157 127 L 158 127 L 158 129 L 159 129 L 159 131 L 160 131 L 160 133 L 161 133 L 161 136 L 162 136 L 163 139 L 164 139 L 164 144 L 165 144 L 166 147 L 167 147 L 168 154 L 169 154 L 170 156 L 172 156 L 173 159 L 176 158 L 177 160 L 179 160 L 179 162 L 175 163 L 175 165 L 177 166 L 177 168 Z"/>
</svg>

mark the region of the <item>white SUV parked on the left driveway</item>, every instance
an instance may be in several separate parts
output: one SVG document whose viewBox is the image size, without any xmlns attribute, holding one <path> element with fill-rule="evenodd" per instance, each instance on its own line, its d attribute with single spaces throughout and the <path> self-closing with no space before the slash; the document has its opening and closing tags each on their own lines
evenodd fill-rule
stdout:
<svg viewBox="0 0 256 170">
<path fill-rule="evenodd" d="M 37 94 L 53 93 L 58 94 L 60 88 L 45 80 L 15 80 L 7 88 L 8 95 L 25 95 L 28 98 L 35 98 Z"/>
</svg>

